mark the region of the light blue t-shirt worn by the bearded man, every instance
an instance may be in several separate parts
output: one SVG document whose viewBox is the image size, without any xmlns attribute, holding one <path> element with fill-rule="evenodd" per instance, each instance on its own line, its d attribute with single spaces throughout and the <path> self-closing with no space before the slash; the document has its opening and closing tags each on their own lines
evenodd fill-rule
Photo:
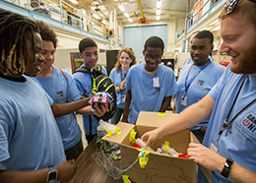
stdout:
<svg viewBox="0 0 256 183">
<path fill-rule="evenodd" d="M 244 75 L 234 74 L 230 71 L 230 65 L 224 72 L 223 77 L 210 91 L 210 95 L 216 100 L 203 145 L 210 148 L 211 143 L 217 140 L 219 132 L 223 128 L 224 119 L 231 108 L 235 96 L 242 84 Z M 233 109 L 229 115 L 230 121 L 241 109 L 255 99 L 256 78 L 248 75 L 242 90 L 240 91 Z M 256 170 L 256 104 L 254 103 L 245 111 L 240 113 L 231 125 L 231 133 L 226 129 L 218 141 L 219 152 L 222 156 L 228 157 L 255 172 Z M 213 182 L 233 182 L 226 179 L 219 172 L 212 172 Z M 205 177 L 199 170 L 200 182 L 205 182 Z"/>
</svg>

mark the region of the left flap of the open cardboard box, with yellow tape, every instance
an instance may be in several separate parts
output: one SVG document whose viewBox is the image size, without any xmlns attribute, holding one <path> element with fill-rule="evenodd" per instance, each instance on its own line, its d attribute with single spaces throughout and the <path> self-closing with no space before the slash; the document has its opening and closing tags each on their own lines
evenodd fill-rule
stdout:
<svg viewBox="0 0 256 183">
<path fill-rule="evenodd" d="M 131 132 L 131 130 L 134 128 L 134 125 L 124 122 L 119 122 L 117 127 L 120 127 L 121 133 L 120 134 L 114 134 L 110 137 L 102 137 L 102 140 L 109 141 L 111 143 L 121 144 L 124 138 Z"/>
</svg>

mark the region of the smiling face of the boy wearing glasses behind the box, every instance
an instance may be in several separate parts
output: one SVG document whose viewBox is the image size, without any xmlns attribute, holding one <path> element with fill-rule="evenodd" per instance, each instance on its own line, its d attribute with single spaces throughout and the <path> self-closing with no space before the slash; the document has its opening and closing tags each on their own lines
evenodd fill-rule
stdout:
<svg viewBox="0 0 256 183">
<path fill-rule="evenodd" d="M 162 51 L 160 47 L 147 47 L 145 51 L 143 51 L 145 56 L 145 69 L 149 72 L 155 71 L 161 60 Z"/>
</svg>

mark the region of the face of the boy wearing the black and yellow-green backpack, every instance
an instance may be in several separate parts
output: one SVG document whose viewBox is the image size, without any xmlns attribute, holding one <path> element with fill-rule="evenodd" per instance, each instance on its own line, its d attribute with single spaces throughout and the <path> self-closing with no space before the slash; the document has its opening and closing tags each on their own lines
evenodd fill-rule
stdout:
<svg viewBox="0 0 256 183">
<path fill-rule="evenodd" d="M 79 53 L 79 55 L 84 59 L 84 63 L 88 69 L 96 66 L 98 58 L 96 47 L 87 47 L 82 53 Z"/>
</svg>

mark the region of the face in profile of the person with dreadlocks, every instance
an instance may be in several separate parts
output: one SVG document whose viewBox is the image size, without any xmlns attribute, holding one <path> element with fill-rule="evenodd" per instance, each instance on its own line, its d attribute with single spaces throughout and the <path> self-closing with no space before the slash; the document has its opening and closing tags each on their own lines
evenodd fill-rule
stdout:
<svg viewBox="0 0 256 183">
<path fill-rule="evenodd" d="M 43 62 L 44 58 L 42 57 L 40 50 L 41 50 L 41 36 L 39 33 L 33 33 L 33 41 L 34 41 L 34 52 L 32 52 L 32 42 L 28 41 L 28 51 L 29 51 L 29 61 L 28 61 L 28 71 L 26 75 L 35 77 L 36 74 L 41 70 L 41 63 Z"/>
</svg>

